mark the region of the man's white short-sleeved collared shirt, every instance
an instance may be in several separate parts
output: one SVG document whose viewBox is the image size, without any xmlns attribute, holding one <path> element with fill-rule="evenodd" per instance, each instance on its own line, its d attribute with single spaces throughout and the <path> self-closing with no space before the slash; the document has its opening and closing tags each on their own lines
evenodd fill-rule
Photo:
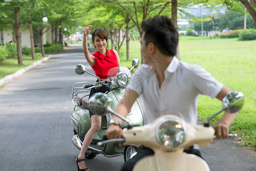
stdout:
<svg viewBox="0 0 256 171">
<path fill-rule="evenodd" d="M 172 59 L 166 68 L 165 80 L 159 87 L 157 74 L 152 66 L 142 64 L 127 89 L 143 93 L 145 116 L 148 123 L 167 114 L 180 116 L 186 122 L 197 124 L 198 95 L 212 99 L 221 91 L 223 84 L 198 65 Z"/>
</svg>

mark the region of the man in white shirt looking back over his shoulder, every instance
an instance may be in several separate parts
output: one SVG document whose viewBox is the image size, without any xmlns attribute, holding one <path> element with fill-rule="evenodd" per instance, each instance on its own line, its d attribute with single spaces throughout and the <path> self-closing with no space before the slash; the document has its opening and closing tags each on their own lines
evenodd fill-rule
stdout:
<svg viewBox="0 0 256 171">
<path fill-rule="evenodd" d="M 125 95 L 116 112 L 127 116 L 136 98 L 143 94 L 145 115 L 148 123 L 166 114 L 180 116 L 190 124 L 197 124 L 198 95 L 208 95 L 222 100 L 230 89 L 218 82 L 209 72 L 197 65 L 181 62 L 175 57 L 178 32 L 171 19 L 166 16 L 155 16 L 142 23 L 141 65 L 132 76 Z M 217 139 L 226 139 L 229 125 L 237 116 L 225 111 L 220 123 L 214 127 Z M 119 124 L 123 120 L 113 116 Z M 107 130 L 108 139 L 122 137 L 122 129 L 118 124 L 111 124 Z M 198 149 L 193 146 L 187 153 L 201 157 Z M 153 154 L 148 148 L 140 148 L 138 153 L 128 160 L 121 170 L 132 170 L 136 162 L 147 155 Z"/>
</svg>

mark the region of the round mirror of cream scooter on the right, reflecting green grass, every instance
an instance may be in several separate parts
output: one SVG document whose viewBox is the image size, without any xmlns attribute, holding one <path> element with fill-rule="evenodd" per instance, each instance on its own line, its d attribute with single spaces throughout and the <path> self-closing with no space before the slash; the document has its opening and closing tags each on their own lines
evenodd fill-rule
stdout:
<svg viewBox="0 0 256 171">
<path fill-rule="evenodd" d="M 232 91 L 227 93 L 227 95 L 222 100 L 222 107 L 224 109 L 229 109 L 230 113 L 238 112 L 245 102 L 245 97 L 242 92 Z"/>
</svg>

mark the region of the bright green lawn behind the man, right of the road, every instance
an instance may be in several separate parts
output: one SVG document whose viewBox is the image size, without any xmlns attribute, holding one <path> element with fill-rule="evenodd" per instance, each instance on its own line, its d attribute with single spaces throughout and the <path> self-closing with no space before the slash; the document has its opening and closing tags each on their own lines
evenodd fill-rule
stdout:
<svg viewBox="0 0 256 171">
<path fill-rule="evenodd" d="M 209 71 L 217 80 L 231 90 L 241 91 L 245 104 L 230 131 L 238 134 L 241 145 L 256 150 L 256 40 L 238 41 L 234 39 L 209 39 L 202 37 L 180 37 L 181 60 L 198 64 Z M 130 60 L 126 60 L 125 44 L 120 52 L 121 64 L 130 67 L 133 58 L 140 58 L 140 42 L 130 44 Z M 199 96 L 198 117 L 205 121 L 221 109 L 221 101 Z M 217 124 L 219 115 L 212 120 Z"/>
</svg>

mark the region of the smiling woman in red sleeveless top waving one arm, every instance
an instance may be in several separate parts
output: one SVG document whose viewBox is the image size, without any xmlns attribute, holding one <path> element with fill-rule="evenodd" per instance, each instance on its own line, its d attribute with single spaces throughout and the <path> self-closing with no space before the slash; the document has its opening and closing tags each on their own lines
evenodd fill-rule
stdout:
<svg viewBox="0 0 256 171">
<path fill-rule="evenodd" d="M 113 67 L 120 67 L 120 59 L 116 50 L 108 50 L 105 48 L 108 37 L 105 32 L 101 28 L 97 28 L 92 32 L 92 43 L 96 47 L 96 52 L 94 54 L 90 54 L 88 50 L 88 40 L 87 35 L 90 33 L 92 26 L 87 26 L 83 31 L 83 52 L 86 57 L 87 62 L 90 64 L 92 69 L 95 72 L 95 75 L 100 78 L 100 80 L 105 80 L 105 82 L 109 82 L 107 79 L 108 70 Z M 108 89 L 103 88 L 100 91 L 105 92 Z M 99 92 L 96 89 L 91 89 L 90 96 Z M 90 112 L 92 125 L 90 130 L 87 132 L 86 137 L 84 137 L 82 149 L 80 150 L 78 158 L 76 158 L 76 163 L 78 164 L 78 170 L 89 171 L 86 168 L 86 163 L 84 162 L 84 154 L 88 146 L 91 144 L 91 141 L 99 131 L 101 127 L 101 116 L 93 115 Z"/>
</svg>

